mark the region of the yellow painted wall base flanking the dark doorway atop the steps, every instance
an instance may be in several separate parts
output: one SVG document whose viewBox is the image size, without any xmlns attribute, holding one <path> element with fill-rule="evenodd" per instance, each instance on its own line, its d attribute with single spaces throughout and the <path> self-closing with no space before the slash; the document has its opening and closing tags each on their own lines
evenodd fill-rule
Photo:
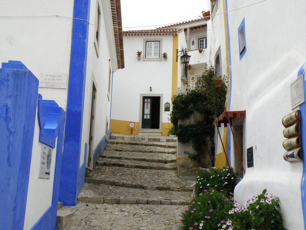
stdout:
<svg viewBox="0 0 306 230">
<path fill-rule="evenodd" d="M 121 133 L 121 134 L 133 134 L 138 135 L 138 127 L 139 122 L 135 122 L 135 128 L 129 128 L 129 121 L 121 121 L 121 120 L 110 120 L 110 131 L 113 133 Z M 170 122 L 162 123 L 162 136 L 168 136 L 168 132 L 172 124 Z"/>
</svg>

